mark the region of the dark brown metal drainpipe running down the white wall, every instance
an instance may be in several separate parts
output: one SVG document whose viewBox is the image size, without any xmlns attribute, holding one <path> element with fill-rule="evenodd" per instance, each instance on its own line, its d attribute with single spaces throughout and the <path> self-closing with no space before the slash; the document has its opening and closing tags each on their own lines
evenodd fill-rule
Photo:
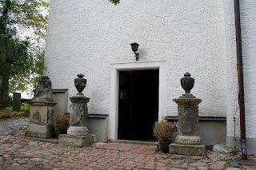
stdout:
<svg viewBox="0 0 256 170">
<path fill-rule="evenodd" d="M 238 102 L 240 107 L 241 152 L 242 152 L 242 160 L 247 160 L 245 101 L 244 101 L 244 86 L 243 86 L 243 71 L 242 71 L 242 38 L 241 38 L 239 0 L 234 0 L 234 16 L 235 16 L 235 30 L 236 30 L 236 41 L 237 41 L 238 88 L 239 88 Z"/>
</svg>

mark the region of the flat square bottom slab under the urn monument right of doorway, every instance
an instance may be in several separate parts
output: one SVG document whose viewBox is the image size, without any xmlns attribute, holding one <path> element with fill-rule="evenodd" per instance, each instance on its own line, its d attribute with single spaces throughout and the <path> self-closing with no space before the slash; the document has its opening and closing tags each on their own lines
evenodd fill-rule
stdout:
<svg viewBox="0 0 256 170">
<path fill-rule="evenodd" d="M 169 152 L 180 155 L 203 156 L 206 144 L 170 144 Z"/>
</svg>

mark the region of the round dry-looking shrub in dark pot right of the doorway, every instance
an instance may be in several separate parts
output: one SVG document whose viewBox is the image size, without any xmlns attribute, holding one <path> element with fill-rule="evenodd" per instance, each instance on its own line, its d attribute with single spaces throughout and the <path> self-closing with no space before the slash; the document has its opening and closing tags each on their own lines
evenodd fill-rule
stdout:
<svg viewBox="0 0 256 170">
<path fill-rule="evenodd" d="M 154 136 L 158 139 L 160 150 L 162 152 L 169 152 L 169 145 L 171 144 L 171 136 L 174 133 L 174 125 L 162 117 L 154 124 Z"/>
</svg>

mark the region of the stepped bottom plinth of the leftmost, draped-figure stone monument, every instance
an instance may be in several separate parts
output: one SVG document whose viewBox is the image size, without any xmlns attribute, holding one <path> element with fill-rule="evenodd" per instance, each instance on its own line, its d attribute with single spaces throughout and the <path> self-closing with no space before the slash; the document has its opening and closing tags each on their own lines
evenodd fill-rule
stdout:
<svg viewBox="0 0 256 170">
<path fill-rule="evenodd" d="M 26 128 L 25 136 L 38 138 L 53 138 L 55 136 L 54 126 L 29 125 Z"/>
</svg>

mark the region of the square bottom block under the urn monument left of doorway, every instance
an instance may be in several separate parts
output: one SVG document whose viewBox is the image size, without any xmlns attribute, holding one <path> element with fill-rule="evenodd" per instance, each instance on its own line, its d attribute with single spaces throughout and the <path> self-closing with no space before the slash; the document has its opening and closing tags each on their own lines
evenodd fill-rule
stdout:
<svg viewBox="0 0 256 170">
<path fill-rule="evenodd" d="M 84 147 L 84 146 L 90 146 L 94 144 L 94 136 L 90 136 L 90 135 L 74 136 L 74 135 L 60 134 L 58 136 L 58 142 L 60 144 L 74 146 L 74 147 Z"/>
</svg>

